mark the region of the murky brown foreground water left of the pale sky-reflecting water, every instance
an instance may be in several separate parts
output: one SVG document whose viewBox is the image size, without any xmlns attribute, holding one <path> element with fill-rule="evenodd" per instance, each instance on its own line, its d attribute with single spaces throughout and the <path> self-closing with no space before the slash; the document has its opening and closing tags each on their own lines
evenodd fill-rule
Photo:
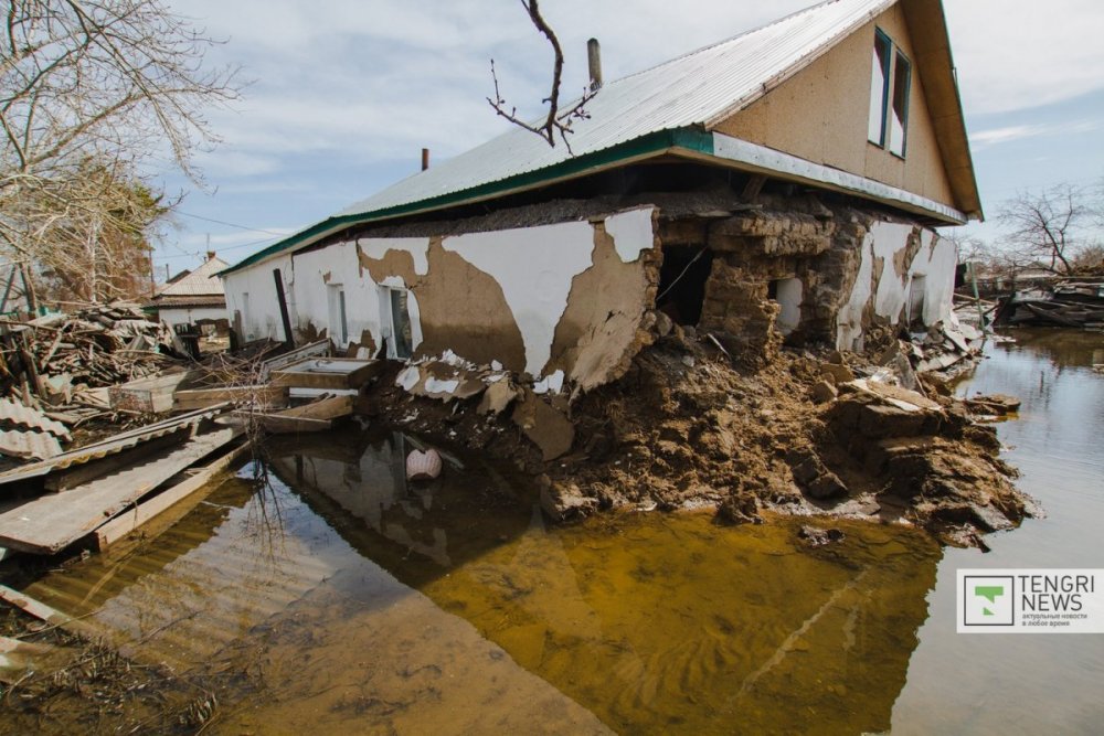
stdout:
<svg viewBox="0 0 1104 736">
<path fill-rule="evenodd" d="M 627 514 L 546 529 L 478 460 L 406 440 L 274 447 L 156 543 L 32 589 L 219 692 L 212 729 L 884 730 L 941 551 L 900 526 Z M 264 473 L 262 473 L 264 474 Z"/>
</svg>

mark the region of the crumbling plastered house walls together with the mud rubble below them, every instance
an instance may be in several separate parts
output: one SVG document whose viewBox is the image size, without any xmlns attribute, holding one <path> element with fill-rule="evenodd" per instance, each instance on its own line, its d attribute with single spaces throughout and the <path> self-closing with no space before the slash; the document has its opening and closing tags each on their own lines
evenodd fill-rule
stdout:
<svg viewBox="0 0 1104 736">
<path fill-rule="evenodd" d="M 299 340 L 394 359 L 374 413 L 512 459 L 553 516 L 831 512 L 978 544 L 1031 506 L 991 430 L 916 375 L 979 337 L 952 314 L 956 260 L 900 214 L 719 191 L 375 226 L 274 275 Z"/>
</svg>

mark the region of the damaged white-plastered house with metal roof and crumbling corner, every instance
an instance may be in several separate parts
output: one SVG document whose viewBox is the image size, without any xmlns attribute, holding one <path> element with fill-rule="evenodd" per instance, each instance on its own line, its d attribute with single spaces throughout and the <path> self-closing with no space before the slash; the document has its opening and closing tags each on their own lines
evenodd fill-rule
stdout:
<svg viewBox="0 0 1104 736">
<path fill-rule="evenodd" d="M 664 312 L 754 356 L 949 316 L 981 217 L 938 0 L 832 0 L 607 82 L 226 269 L 243 340 L 322 333 L 586 391 Z M 457 121 L 460 122 L 460 121 Z M 274 279 L 275 276 L 275 279 Z"/>
</svg>

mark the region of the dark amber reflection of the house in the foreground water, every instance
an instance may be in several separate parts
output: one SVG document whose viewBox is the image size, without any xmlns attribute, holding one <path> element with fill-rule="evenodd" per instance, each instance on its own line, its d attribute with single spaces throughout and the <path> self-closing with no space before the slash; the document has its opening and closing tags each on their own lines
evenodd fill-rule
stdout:
<svg viewBox="0 0 1104 736">
<path fill-rule="evenodd" d="M 349 462 L 299 447 L 273 467 L 350 544 L 614 729 L 889 726 L 940 557 L 925 536 L 845 524 L 841 546 L 806 551 L 789 520 L 697 515 L 550 531 L 508 487 L 488 504 L 487 476 L 407 486 L 404 449 L 392 435 Z"/>
</svg>

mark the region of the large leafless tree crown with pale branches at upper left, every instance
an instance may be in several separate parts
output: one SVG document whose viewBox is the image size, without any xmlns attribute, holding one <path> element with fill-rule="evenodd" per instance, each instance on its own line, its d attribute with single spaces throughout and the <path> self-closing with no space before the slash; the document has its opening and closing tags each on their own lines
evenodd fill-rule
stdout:
<svg viewBox="0 0 1104 736">
<path fill-rule="evenodd" d="M 0 249 L 49 270 L 60 235 L 100 246 L 115 184 L 149 159 L 197 179 L 192 153 L 216 142 L 203 113 L 237 96 L 237 70 L 204 70 L 214 41 L 161 0 L 9 0 L 4 15 Z M 89 166 L 109 175 L 88 181 Z"/>
</svg>

